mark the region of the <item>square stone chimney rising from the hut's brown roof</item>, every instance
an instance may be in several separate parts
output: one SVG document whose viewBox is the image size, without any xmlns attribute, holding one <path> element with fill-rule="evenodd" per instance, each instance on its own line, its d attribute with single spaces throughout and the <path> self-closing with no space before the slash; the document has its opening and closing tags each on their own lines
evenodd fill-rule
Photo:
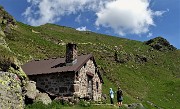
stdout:
<svg viewBox="0 0 180 109">
<path fill-rule="evenodd" d="M 68 43 L 66 45 L 66 65 L 71 66 L 77 63 L 77 45 Z"/>
</svg>

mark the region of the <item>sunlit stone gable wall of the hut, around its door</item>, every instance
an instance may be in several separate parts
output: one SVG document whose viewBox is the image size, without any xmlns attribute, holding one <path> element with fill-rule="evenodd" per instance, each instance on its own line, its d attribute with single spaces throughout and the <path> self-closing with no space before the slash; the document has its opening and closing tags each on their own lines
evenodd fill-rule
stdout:
<svg viewBox="0 0 180 109">
<path fill-rule="evenodd" d="M 81 98 L 87 97 L 87 78 L 88 78 L 88 73 L 92 74 L 92 81 L 93 81 L 93 100 L 98 101 L 101 99 L 101 94 L 102 94 L 102 83 L 100 82 L 100 78 L 98 77 L 98 74 L 95 70 L 95 65 L 92 60 L 88 60 L 88 62 L 80 69 L 79 72 L 76 73 L 76 79 L 75 79 L 75 86 L 77 89 L 79 88 L 78 91 L 75 92 L 76 95 L 78 95 Z M 97 88 L 98 84 L 98 88 Z M 76 88 L 75 88 L 76 89 Z"/>
</svg>

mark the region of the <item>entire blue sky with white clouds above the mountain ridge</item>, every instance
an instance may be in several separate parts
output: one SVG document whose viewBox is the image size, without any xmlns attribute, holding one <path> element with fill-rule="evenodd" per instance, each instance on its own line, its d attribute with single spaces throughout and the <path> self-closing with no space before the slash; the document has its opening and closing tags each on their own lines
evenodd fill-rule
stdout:
<svg viewBox="0 0 180 109">
<path fill-rule="evenodd" d="M 0 0 L 17 21 L 54 23 L 133 40 L 166 38 L 180 49 L 180 0 Z"/>
</svg>

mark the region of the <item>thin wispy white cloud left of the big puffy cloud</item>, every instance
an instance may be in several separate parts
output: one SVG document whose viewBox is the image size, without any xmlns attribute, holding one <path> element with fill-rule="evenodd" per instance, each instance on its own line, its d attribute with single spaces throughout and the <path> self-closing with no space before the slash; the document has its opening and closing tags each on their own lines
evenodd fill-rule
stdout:
<svg viewBox="0 0 180 109">
<path fill-rule="evenodd" d="M 61 17 L 84 10 L 97 10 L 108 0 L 27 0 L 31 6 L 22 14 L 28 24 L 55 23 Z"/>
</svg>

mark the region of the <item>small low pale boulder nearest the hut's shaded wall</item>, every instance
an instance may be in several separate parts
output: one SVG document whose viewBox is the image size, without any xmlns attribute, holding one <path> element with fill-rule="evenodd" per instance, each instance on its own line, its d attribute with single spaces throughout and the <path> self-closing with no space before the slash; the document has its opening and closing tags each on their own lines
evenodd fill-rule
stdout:
<svg viewBox="0 0 180 109">
<path fill-rule="evenodd" d="M 40 101 L 46 105 L 52 102 L 51 98 L 48 96 L 47 93 L 37 93 L 35 101 L 36 102 Z"/>
</svg>

